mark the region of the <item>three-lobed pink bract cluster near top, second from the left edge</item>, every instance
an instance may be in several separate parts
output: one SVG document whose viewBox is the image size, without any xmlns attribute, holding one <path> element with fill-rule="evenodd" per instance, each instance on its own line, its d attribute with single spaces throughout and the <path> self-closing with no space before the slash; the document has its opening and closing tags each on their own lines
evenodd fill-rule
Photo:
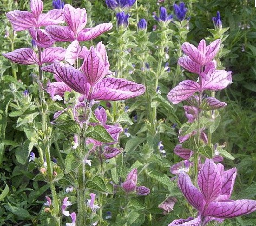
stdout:
<svg viewBox="0 0 256 226">
<path fill-rule="evenodd" d="M 74 8 L 65 4 L 63 8 L 65 22 L 68 26 L 52 25 L 47 26 L 46 30 L 52 40 L 57 42 L 79 42 L 94 39 L 112 28 L 111 23 L 103 23 L 95 28 L 84 28 L 87 24 L 86 9 Z"/>
</svg>

